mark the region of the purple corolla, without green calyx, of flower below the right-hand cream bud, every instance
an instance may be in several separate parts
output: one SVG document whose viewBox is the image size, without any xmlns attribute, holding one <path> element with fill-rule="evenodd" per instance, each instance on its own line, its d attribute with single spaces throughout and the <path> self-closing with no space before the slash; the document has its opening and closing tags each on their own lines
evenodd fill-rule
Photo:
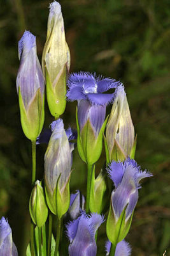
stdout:
<svg viewBox="0 0 170 256">
<path fill-rule="evenodd" d="M 142 172 L 136 161 L 129 157 L 124 163 L 113 161 L 109 165 L 108 173 L 115 185 L 115 190 L 111 194 L 111 206 L 115 220 L 118 220 L 127 206 L 125 210 L 125 221 L 127 221 L 138 202 L 138 189 L 141 188 L 140 180 L 150 177 L 152 174 L 146 170 Z"/>
</svg>

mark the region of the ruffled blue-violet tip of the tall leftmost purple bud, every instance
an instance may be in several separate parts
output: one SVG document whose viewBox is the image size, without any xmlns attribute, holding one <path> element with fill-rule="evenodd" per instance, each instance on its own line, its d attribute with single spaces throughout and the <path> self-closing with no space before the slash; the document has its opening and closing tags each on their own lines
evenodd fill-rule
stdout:
<svg viewBox="0 0 170 256">
<path fill-rule="evenodd" d="M 18 56 L 22 54 L 23 49 L 30 51 L 32 47 L 36 47 L 36 36 L 32 35 L 30 31 L 25 30 L 22 38 L 18 42 Z"/>
</svg>

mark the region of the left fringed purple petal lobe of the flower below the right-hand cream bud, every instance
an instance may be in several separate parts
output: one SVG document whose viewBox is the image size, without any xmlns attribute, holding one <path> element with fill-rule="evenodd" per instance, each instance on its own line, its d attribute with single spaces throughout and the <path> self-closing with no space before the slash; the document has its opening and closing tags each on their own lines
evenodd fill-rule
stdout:
<svg viewBox="0 0 170 256">
<path fill-rule="evenodd" d="M 109 164 L 109 168 L 107 168 L 107 171 L 109 173 L 110 179 L 113 181 L 115 185 L 115 188 L 117 188 L 117 186 L 120 184 L 124 176 L 124 172 L 125 172 L 124 164 L 122 164 L 121 162 L 117 163 L 113 161 L 111 162 L 111 164 Z"/>
</svg>

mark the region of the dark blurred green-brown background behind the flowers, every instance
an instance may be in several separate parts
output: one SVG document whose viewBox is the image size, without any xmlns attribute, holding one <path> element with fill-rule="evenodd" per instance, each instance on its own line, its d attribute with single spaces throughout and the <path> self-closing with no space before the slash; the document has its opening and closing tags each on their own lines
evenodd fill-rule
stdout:
<svg viewBox="0 0 170 256">
<path fill-rule="evenodd" d="M 153 177 L 139 191 L 127 241 L 132 255 L 170 255 L 170 172 L 168 100 L 170 67 L 169 0 L 62 0 L 71 72 L 96 71 L 122 81 L 138 134 L 136 161 Z M 29 239 L 31 143 L 20 125 L 15 79 L 17 42 L 25 29 L 36 35 L 39 60 L 46 40 L 49 1 L 0 0 L 0 214 L 7 216 L 19 255 Z M 75 127 L 75 104 L 62 116 Z M 46 104 L 45 127 L 52 122 Z M 37 148 L 37 178 L 43 177 L 46 146 Z M 104 163 L 104 154 L 98 170 Z M 85 193 L 86 170 L 74 152 L 71 191 Z M 104 255 L 104 230 L 99 251 Z"/>
</svg>

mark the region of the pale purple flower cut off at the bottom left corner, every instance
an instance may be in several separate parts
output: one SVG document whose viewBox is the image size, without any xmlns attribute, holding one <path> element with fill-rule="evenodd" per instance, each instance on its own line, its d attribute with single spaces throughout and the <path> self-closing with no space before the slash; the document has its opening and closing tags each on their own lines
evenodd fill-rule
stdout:
<svg viewBox="0 0 170 256">
<path fill-rule="evenodd" d="M 12 240 L 12 231 L 4 217 L 0 220 L 0 255 L 18 256 L 17 247 Z"/>
</svg>

